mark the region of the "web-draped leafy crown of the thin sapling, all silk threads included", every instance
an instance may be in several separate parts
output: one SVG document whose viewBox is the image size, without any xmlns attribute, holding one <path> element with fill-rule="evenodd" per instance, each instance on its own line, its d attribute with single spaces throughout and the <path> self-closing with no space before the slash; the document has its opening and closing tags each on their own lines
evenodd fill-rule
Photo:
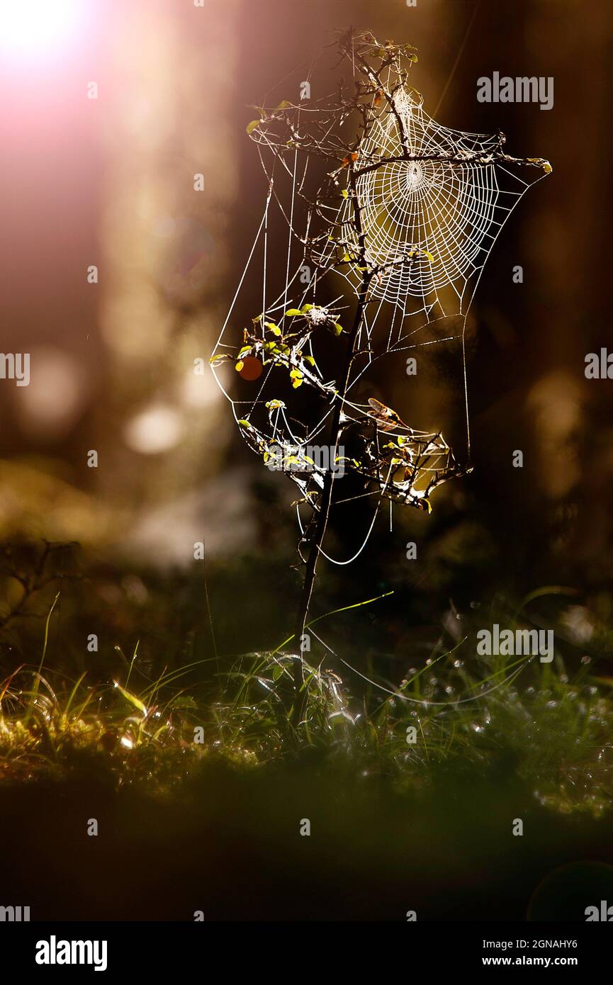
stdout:
<svg viewBox="0 0 613 985">
<path fill-rule="evenodd" d="M 372 53 L 370 44 L 359 49 L 359 58 L 365 51 Z M 351 56 L 355 75 L 353 46 Z M 378 51 L 377 57 L 378 71 L 360 58 L 366 81 L 358 99 L 284 101 L 276 110 L 262 110 L 262 118 L 250 125 L 268 193 L 212 356 L 215 377 L 232 404 L 244 440 L 269 468 L 285 472 L 299 487 L 297 514 L 303 538 L 307 524 L 301 504 L 306 503 L 312 519 L 332 465 L 342 467 L 341 472 L 347 467 L 363 482 L 363 492 L 335 499 L 335 505 L 361 496 L 374 501 L 366 536 L 352 557 L 331 558 L 321 549 L 324 557 L 340 564 L 364 550 L 383 499 L 389 500 L 390 511 L 394 501 L 430 511 L 431 493 L 447 479 L 470 471 L 465 348 L 470 304 L 511 211 L 530 184 L 551 170 L 541 159 L 511 158 L 503 150 L 501 133 L 464 133 L 436 122 L 425 112 L 421 95 L 408 85 L 399 59 L 387 57 L 385 51 L 383 56 Z M 338 124 L 346 124 L 356 108 L 364 121 L 363 105 L 368 106 L 368 126 L 363 126 L 357 150 L 348 156 Z M 333 169 L 322 173 L 322 163 Z M 532 180 L 526 177 L 529 167 L 540 170 Z M 313 168 L 314 194 L 308 191 Z M 350 170 L 354 183 L 343 187 Z M 275 231 L 279 221 L 288 230 L 281 263 Z M 237 327 L 230 322 L 245 278 L 252 285 L 256 265 L 261 308 L 251 326 L 243 327 L 240 346 Z M 355 356 L 343 388 L 335 379 L 334 362 L 330 370 L 326 356 L 334 337 L 340 342 L 348 331 L 347 319 L 364 295 L 367 275 Z M 409 426 L 386 403 L 356 396 L 375 363 L 451 343 L 461 361 L 466 427 L 462 466 L 440 430 Z M 238 384 L 242 392 L 250 388 L 250 394 L 242 399 L 240 393 L 236 399 L 229 393 L 234 380 L 222 379 L 221 363 L 234 361 L 241 371 L 245 360 L 261 361 L 263 371 L 256 381 Z M 331 378 L 326 378 L 326 369 Z M 285 370 L 283 381 L 280 370 Z M 314 423 L 308 427 L 302 407 L 295 410 L 296 391 L 303 386 L 316 397 L 314 417 L 309 418 Z M 358 436 L 360 452 L 341 456 L 338 446 L 330 445 L 333 457 L 322 463 L 312 449 L 326 440 L 338 401 L 342 427 L 350 437 Z"/>
</svg>

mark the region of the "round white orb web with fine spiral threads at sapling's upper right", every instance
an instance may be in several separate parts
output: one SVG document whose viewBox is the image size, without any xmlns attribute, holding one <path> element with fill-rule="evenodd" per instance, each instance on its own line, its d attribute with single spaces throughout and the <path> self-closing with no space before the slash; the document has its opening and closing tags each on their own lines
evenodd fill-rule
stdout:
<svg viewBox="0 0 613 985">
<path fill-rule="evenodd" d="M 424 311 L 437 303 L 443 310 L 439 292 L 451 285 L 461 311 L 470 278 L 482 269 L 498 230 L 527 184 L 511 175 L 511 182 L 501 186 L 496 164 L 471 163 L 475 155 L 482 159 L 495 152 L 497 136 L 449 130 L 432 120 L 421 97 L 416 97 L 415 91 L 404 89 L 395 95 L 409 153 L 416 160 L 383 164 L 357 182 L 369 260 L 393 264 L 414 254 L 413 263 L 392 266 L 384 280 L 375 283 L 374 294 L 402 304 L 405 311 L 405 298 L 420 300 Z M 366 158 L 401 156 L 393 114 L 375 119 L 362 153 Z M 445 156 L 452 160 L 445 161 Z M 461 164 L 463 156 L 466 164 Z M 340 222 L 355 245 L 350 211 L 346 203 Z"/>
</svg>

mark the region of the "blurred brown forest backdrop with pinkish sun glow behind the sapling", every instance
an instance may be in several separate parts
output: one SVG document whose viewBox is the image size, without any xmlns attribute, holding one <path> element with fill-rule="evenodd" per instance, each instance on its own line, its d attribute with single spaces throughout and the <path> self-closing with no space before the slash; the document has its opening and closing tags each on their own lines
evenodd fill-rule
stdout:
<svg viewBox="0 0 613 985">
<path fill-rule="evenodd" d="M 248 106 L 350 25 L 418 47 L 414 84 L 442 123 L 500 127 L 511 153 L 554 171 L 511 216 L 473 303 L 474 472 L 436 494 L 430 517 L 396 510 L 390 534 L 383 516 L 355 565 L 322 568 L 313 615 L 393 589 L 325 636 L 390 659 L 435 641 L 449 611 L 548 584 L 606 621 L 611 384 L 583 368 L 610 337 L 612 20 L 604 2 L 564 0 L 111 3 L 43 55 L 8 53 L 2 341 L 32 353 L 33 375 L 0 386 L 0 533 L 83 546 L 82 571 L 115 595 L 87 591 L 76 608 L 110 621 L 109 649 L 136 634 L 153 659 L 168 636 L 178 655 L 185 632 L 210 647 L 199 540 L 222 652 L 276 645 L 292 625 L 294 487 L 262 469 L 191 365 L 208 359 L 264 205 Z M 553 76 L 553 108 L 477 102 L 476 80 L 494 71 Z M 85 98 L 91 79 L 98 100 Z M 340 557 L 363 519 L 333 526 Z M 161 598 L 153 620 L 137 597 Z"/>
</svg>

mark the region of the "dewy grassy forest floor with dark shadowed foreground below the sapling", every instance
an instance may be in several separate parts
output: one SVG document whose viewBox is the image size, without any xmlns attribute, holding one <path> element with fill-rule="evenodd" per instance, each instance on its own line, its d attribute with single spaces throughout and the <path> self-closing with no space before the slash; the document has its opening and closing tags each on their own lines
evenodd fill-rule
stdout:
<svg viewBox="0 0 613 985">
<path fill-rule="evenodd" d="M 191 646 L 160 672 L 115 645 L 114 664 L 93 650 L 75 672 L 77 617 L 49 587 L 37 621 L 22 606 L 3 627 L 0 903 L 57 920 L 579 920 L 613 898 L 606 626 L 543 662 L 477 654 L 464 621 L 396 684 L 306 653 L 296 714 L 291 644 Z M 524 609 L 505 624 L 530 625 Z"/>
</svg>

